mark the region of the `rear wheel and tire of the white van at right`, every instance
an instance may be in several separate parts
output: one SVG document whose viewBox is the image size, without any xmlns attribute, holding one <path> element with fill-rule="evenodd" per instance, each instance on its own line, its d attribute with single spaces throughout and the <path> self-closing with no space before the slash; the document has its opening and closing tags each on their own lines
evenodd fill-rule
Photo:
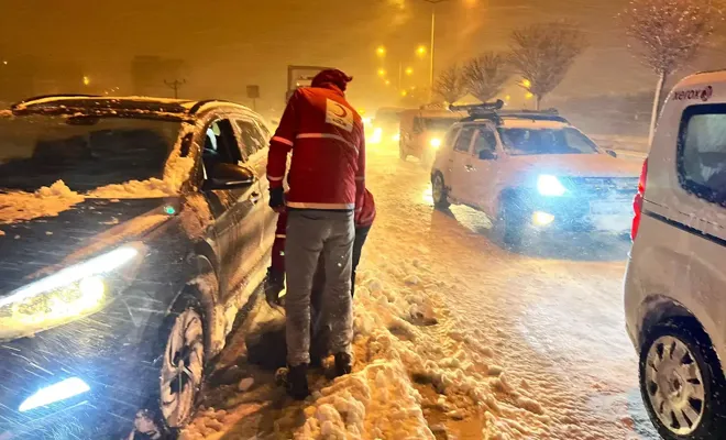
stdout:
<svg viewBox="0 0 726 440">
<path fill-rule="evenodd" d="M 639 373 L 646 410 L 663 439 L 726 438 L 724 374 L 710 338 L 695 321 L 667 321 L 650 329 Z"/>
</svg>

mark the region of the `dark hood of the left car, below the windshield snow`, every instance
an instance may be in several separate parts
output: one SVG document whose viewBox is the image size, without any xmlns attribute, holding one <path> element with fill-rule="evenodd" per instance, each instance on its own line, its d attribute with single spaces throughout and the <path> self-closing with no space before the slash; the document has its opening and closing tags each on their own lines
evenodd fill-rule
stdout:
<svg viewBox="0 0 726 440">
<path fill-rule="evenodd" d="M 0 297 L 170 219 L 169 199 L 86 199 L 55 217 L 0 224 Z"/>
</svg>

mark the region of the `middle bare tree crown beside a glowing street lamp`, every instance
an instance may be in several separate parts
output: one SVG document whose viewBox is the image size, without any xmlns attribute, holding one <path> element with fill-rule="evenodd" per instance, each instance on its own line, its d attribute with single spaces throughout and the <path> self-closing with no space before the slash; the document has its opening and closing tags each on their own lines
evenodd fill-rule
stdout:
<svg viewBox="0 0 726 440">
<path fill-rule="evenodd" d="M 512 33 L 509 62 L 524 78 L 522 87 L 535 95 L 538 110 L 586 47 L 585 34 L 568 21 L 532 24 Z"/>
</svg>

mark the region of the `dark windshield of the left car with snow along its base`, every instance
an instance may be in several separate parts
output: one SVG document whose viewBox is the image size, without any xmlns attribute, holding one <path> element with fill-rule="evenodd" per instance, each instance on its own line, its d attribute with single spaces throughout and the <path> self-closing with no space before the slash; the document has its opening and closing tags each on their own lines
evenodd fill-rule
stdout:
<svg viewBox="0 0 726 440">
<path fill-rule="evenodd" d="M 4 133 L 6 148 L 0 153 L 0 224 L 55 217 L 87 198 L 174 197 L 194 166 L 191 157 L 182 157 L 180 147 L 191 129 L 175 122 L 109 120 L 100 130 L 96 124 L 66 125 L 33 135 L 37 127 L 14 122 Z M 0 121 L 0 138 L 4 123 Z M 164 128 L 157 133 L 163 136 L 152 135 L 160 144 L 134 142 L 148 132 L 140 134 L 130 127 L 144 124 Z M 116 131 L 109 125 L 117 125 Z M 143 157 L 146 153 L 152 157 Z"/>
</svg>

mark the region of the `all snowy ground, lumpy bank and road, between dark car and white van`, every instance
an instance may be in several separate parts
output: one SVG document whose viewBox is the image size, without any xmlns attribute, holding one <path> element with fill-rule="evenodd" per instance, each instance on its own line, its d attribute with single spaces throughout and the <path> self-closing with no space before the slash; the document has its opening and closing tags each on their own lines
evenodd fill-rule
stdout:
<svg viewBox="0 0 726 440">
<path fill-rule="evenodd" d="M 432 208 L 429 175 L 370 153 L 378 218 L 355 297 L 353 374 L 275 386 L 283 320 L 234 333 L 185 439 L 654 439 L 624 330 L 629 243 L 568 234 L 521 253 L 468 208 Z M 266 369 L 265 369 L 266 367 Z"/>
</svg>

